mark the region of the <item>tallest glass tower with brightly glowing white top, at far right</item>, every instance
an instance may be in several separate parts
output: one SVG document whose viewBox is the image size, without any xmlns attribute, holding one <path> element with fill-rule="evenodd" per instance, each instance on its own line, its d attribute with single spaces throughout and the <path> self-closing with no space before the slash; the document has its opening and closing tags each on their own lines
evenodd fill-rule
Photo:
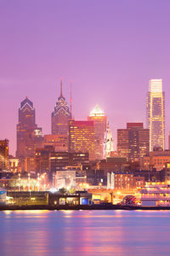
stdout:
<svg viewBox="0 0 170 256">
<path fill-rule="evenodd" d="M 161 79 L 150 79 L 146 100 L 146 123 L 150 129 L 150 151 L 165 148 L 165 94 Z"/>
</svg>

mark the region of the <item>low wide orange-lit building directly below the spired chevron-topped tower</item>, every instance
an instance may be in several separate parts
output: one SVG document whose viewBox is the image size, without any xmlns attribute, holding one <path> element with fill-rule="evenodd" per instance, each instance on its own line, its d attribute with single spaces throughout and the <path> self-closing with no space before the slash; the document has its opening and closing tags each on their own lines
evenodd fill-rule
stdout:
<svg viewBox="0 0 170 256">
<path fill-rule="evenodd" d="M 55 151 L 68 151 L 68 136 L 48 134 L 43 136 L 43 147 L 53 146 Z"/>
</svg>

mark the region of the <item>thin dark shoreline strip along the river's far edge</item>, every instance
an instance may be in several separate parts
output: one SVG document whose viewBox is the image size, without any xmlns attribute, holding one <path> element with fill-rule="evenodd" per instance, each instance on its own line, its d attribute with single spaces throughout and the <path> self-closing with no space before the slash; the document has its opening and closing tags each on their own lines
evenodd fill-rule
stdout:
<svg viewBox="0 0 170 256">
<path fill-rule="evenodd" d="M 92 206 L 48 206 L 48 205 L 37 205 L 37 206 L 7 206 L 1 205 L 0 211 L 29 211 L 29 210 L 48 210 L 48 211 L 61 211 L 61 210 L 170 210 L 170 207 L 137 207 L 137 206 L 120 206 L 120 205 L 92 205 Z"/>
</svg>

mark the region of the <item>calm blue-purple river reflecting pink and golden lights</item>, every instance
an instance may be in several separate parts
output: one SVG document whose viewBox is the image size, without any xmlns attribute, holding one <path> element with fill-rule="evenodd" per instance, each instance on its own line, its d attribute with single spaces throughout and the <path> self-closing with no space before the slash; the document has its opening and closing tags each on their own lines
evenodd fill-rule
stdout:
<svg viewBox="0 0 170 256">
<path fill-rule="evenodd" d="M 170 255 L 170 211 L 0 212 L 3 255 Z"/>
</svg>

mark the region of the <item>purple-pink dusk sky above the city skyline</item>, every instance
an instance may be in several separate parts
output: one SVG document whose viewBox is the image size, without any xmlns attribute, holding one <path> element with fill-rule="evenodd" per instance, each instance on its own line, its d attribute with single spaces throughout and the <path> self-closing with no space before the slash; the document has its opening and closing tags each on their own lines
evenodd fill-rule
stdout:
<svg viewBox="0 0 170 256">
<path fill-rule="evenodd" d="M 99 103 L 115 141 L 127 122 L 145 124 L 148 81 L 163 79 L 167 134 L 169 68 L 169 0 L 0 1 L 0 139 L 9 139 L 14 154 L 25 96 L 50 133 L 61 76 L 67 99 L 73 81 L 75 119 Z"/>
</svg>

